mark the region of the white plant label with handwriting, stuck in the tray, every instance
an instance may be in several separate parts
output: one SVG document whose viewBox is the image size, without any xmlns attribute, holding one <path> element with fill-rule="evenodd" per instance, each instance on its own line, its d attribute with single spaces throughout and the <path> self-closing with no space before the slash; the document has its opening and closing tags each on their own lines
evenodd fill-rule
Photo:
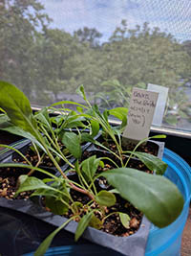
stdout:
<svg viewBox="0 0 191 256">
<path fill-rule="evenodd" d="M 158 96 L 157 92 L 133 88 L 124 137 L 135 141 L 148 137 Z"/>
</svg>

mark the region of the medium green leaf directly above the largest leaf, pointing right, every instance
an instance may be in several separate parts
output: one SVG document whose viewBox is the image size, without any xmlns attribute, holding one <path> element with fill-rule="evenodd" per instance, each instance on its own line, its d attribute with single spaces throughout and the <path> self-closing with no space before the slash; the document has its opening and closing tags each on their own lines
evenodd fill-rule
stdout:
<svg viewBox="0 0 191 256">
<path fill-rule="evenodd" d="M 163 175 L 168 167 L 165 162 L 153 154 L 138 151 L 132 151 L 131 153 L 136 155 L 146 165 L 146 167 L 149 168 L 149 170 L 156 172 L 157 175 Z"/>
</svg>

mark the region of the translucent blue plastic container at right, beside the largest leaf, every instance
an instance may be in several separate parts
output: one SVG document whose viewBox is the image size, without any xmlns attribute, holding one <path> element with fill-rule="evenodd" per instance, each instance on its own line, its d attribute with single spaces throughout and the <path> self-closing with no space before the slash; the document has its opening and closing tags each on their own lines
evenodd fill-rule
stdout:
<svg viewBox="0 0 191 256">
<path fill-rule="evenodd" d="M 165 176 L 174 182 L 184 198 L 180 217 L 165 228 L 152 225 L 146 246 L 145 256 L 180 255 L 181 235 L 187 220 L 191 198 L 191 168 L 175 152 L 164 150 L 163 159 L 168 164 Z"/>
</svg>

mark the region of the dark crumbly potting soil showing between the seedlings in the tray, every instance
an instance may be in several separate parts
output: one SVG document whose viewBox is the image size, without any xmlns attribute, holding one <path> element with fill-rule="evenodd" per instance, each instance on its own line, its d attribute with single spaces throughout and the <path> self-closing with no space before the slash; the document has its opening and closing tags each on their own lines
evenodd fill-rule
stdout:
<svg viewBox="0 0 191 256">
<path fill-rule="evenodd" d="M 115 146 L 111 144 L 110 149 L 113 149 L 115 151 Z M 133 149 L 127 149 L 127 150 L 133 150 Z M 151 147 L 149 147 L 149 148 L 146 147 L 144 149 L 144 151 L 150 152 L 152 154 L 157 154 L 156 149 L 154 149 L 152 151 Z M 96 152 L 95 151 L 84 151 L 82 159 L 85 159 L 86 157 L 97 154 L 97 153 L 98 153 L 97 151 Z M 103 156 L 103 151 L 100 151 L 100 154 Z M 33 151 L 29 150 L 27 152 L 26 156 L 32 162 L 32 165 L 35 166 L 36 163 L 38 162 L 38 158 L 33 153 Z M 97 155 L 97 157 L 100 157 L 100 156 Z M 106 156 L 107 156 L 107 152 L 106 152 Z M 110 155 L 110 157 L 111 157 L 111 155 Z M 113 159 L 113 160 L 117 161 L 117 159 Z M 26 163 L 25 161 L 22 161 L 20 157 L 18 157 L 17 159 L 15 158 L 14 161 L 21 161 L 22 163 Z M 49 158 L 46 158 L 46 157 L 43 160 L 43 165 L 45 165 L 47 167 L 53 166 L 53 164 L 49 160 Z M 142 164 L 140 161 L 135 160 L 135 159 L 131 159 L 131 161 L 128 164 L 128 167 L 136 168 L 138 170 L 141 170 L 141 171 L 144 171 L 147 173 L 151 173 L 144 166 L 144 164 Z M 112 166 L 111 163 L 108 162 L 108 163 L 105 163 L 104 169 L 99 167 L 98 172 L 107 172 L 107 170 L 114 169 L 114 168 L 116 168 L 116 167 L 114 165 Z M 20 195 L 18 195 L 16 198 L 13 198 L 13 197 L 14 197 L 14 194 L 17 189 L 17 179 L 18 179 L 19 175 L 26 175 L 28 172 L 29 172 L 28 169 L 20 169 L 20 168 L 0 169 L 0 198 L 8 198 L 8 199 L 23 199 L 24 198 L 25 200 L 27 200 L 30 197 L 30 195 L 32 194 L 32 192 L 23 192 Z M 71 176 L 70 176 L 70 178 L 73 179 L 73 177 L 71 177 Z M 101 189 L 104 189 L 104 190 L 112 189 L 112 187 L 107 184 L 107 181 L 104 177 L 101 177 L 98 180 L 96 180 L 96 188 L 97 188 L 97 191 L 100 191 Z M 90 200 L 90 198 L 88 198 L 87 196 L 80 194 L 74 190 L 72 190 L 71 194 L 72 194 L 72 197 L 74 198 L 74 201 L 80 201 L 83 204 L 86 204 Z M 103 225 L 100 228 L 100 230 L 102 230 L 106 233 L 110 233 L 115 236 L 127 237 L 127 236 L 130 236 L 138 231 L 140 222 L 142 220 L 142 213 L 139 212 L 137 208 L 135 208 L 131 203 L 129 203 L 125 199 L 120 198 L 118 195 L 116 195 L 116 198 L 117 198 L 117 202 L 114 206 L 104 207 L 105 214 L 109 215 L 113 212 L 121 212 L 121 213 L 128 214 L 130 217 L 129 227 L 125 228 L 121 224 L 118 214 L 113 214 L 103 222 Z M 93 203 L 91 205 L 91 207 L 93 209 L 97 208 L 96 202 Z M 46 209 L 49 210 L 48 208 L 46 208 Z M 81 211 L 81 213 L 80 213 L 81 217 L 84 215 L 85 211 L 86 211 L 85 208 Z M 100 211 L 96 211 L 97 218 L 101 219 L 102 218 L 101 215 L 102 214 Z M 70 218 L 72 216 L 73 216 L 73 214 L 70 211 L 67 215 L 65 215 L 65 217 L 67 217 L 67 218 Z M 75 221 L 78 221 L 78 220 L 76 219 Z"/>
</svg>

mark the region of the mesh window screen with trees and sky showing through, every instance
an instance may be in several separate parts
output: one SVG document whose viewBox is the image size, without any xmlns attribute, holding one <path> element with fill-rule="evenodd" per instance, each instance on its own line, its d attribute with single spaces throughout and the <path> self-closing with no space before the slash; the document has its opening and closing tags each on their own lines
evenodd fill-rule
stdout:
<svg viewBox="0 0 191 256">
<path fill-rule="evenodd" d="M 134 86 L 168 88 L 162 127 L 191 130 L 190 0 L 1 0 L 0 79 L 32 105 L 129 105 Z"/>
</svg>

